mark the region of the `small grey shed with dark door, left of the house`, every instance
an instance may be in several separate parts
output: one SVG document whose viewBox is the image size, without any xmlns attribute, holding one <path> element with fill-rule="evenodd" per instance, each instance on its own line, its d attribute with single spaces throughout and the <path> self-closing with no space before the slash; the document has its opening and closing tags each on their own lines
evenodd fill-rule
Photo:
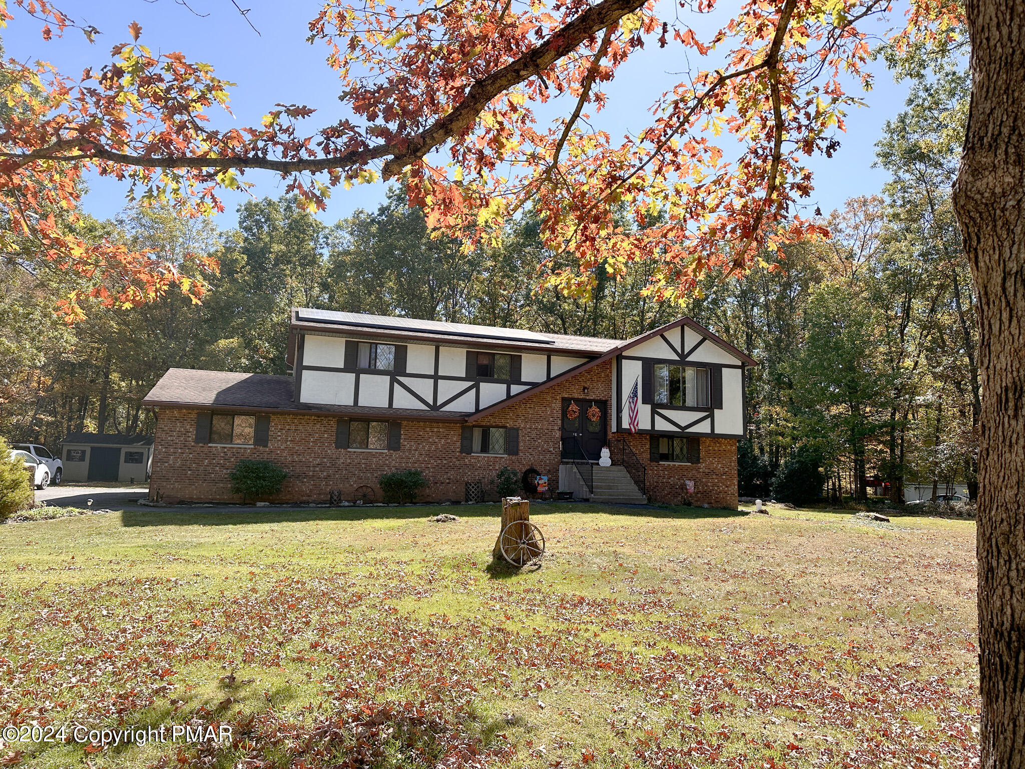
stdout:
<svg viewBox="0 0 1025 769">
<path fill-rule="evenodd" d="M 66 481 L 144 483 L 150 476 L 153 436 L 72 433 L 60 443 Z"/>
</svg>

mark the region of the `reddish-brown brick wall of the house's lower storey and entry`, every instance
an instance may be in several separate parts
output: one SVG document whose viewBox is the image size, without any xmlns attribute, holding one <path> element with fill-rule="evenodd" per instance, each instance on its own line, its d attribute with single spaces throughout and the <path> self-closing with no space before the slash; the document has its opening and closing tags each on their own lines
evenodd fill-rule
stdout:
<svg viewBox="0 0 1025 769">
<path fill-rule="evenodd" d="M 207 446 L 194 442 L 195 410 L 161 408 L 150 495 L 151 498 L 159 495 L 168 502 L 241 501 L 230 492 L 228 480 L 239 459 L 269 459 L 288 472 L 281 493 L 268 498 L 276 502 L 323 502 L 332 489 L 340 490 L 343 498 L 352 498 L 356 487 L 366 484 L 377 489 L 377 479 L 382 474 L 408 469 L 422 470 L 427 477 L 428 487 L 420 495 L 423 501 L 460 501 L 465 481 L 483 481 L 487 485 L 503 466 L 518 473 L 533 467 L 547 475 L 555 488 L 559 479 L 562 399 L 604 398 L 611 402 L 611 363 L 596 366 L 475 422 L 477 427 L 519 428 L 517 456 L 461 454 L 460 424 L 409 420 L 402 422 L 400 451 L 341 450 L 334 447 L 334 416 L 274 412 L 271 412 L 266 447 Z M 586 396 L 582 391 L 585 385 L 589 389 Z M 612 410 L 609 409 L 610 414 Z M 685 481 L 693 480 L 695 503 L 737 507 L 735 440 L 702 438 L 701 463 L 681 466 L 649 462 L 648 436 L 625 437 L 647 466 L 648 494 L 652 500 L 680 502 L 685 496 Z"/>
</svg>

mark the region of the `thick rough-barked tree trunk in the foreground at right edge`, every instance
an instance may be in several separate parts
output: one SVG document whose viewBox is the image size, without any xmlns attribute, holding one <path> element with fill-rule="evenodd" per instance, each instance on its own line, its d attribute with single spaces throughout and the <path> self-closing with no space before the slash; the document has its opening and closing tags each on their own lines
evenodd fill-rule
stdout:
<svg viewBox="0 0 1025 769">
<path fill-rule="evenodd" d="M 1025 0 L 968 0 L 972 108 L 954 207 L 979 294 L 983 769 L 1025 767 Z"/>
</svg>

